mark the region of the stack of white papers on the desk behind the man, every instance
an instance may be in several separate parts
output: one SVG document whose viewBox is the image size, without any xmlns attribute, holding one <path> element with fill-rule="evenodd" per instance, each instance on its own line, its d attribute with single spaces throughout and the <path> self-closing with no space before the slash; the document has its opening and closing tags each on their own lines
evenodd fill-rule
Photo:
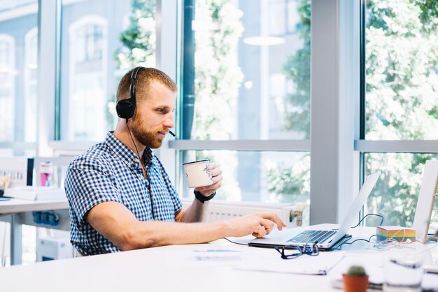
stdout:
<svg viewBox="0 0 438 292">
<path fill-rule="evenodd" d="M 65 200 L 64 189 L 58 187 L 13 187 L 5 190 L 4 196 L 22 200 Z"/>
</svg>

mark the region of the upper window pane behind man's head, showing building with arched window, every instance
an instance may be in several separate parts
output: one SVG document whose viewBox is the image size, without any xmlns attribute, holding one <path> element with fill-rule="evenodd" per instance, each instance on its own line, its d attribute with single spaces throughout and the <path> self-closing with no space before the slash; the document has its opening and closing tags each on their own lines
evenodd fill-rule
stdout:
<svg viewBox="0 0 438 292">
<path fill-rule="evenodd" d="M 61 139 L 102 140 L 122 75 L 155 66 L 155 1 L 63 0 L 61 38 Z"/>
</svg>

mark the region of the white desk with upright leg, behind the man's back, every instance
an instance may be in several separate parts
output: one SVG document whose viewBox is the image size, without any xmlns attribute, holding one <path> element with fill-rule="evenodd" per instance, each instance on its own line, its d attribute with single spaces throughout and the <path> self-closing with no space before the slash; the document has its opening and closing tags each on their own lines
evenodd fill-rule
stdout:
<svg viewBox="0 0 438 292">
<path fill-rule="evenodd" d="M 32 212 L 57 210 L 59 224 L 50 226 L 35 224 Z M 10 222 L 10 264 L 22 263 L 22 224 L 70 230 L 69 202 L 67 200 L 10 200 L 0 201 L 0 221 Z"/>
</svg>

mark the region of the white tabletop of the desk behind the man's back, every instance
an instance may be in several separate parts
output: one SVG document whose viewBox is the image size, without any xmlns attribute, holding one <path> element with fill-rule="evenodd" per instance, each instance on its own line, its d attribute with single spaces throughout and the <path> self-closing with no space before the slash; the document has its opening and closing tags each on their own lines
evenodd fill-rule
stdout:
<svg viewBox="0 0 438 292">
<path fill-rule="evenodd" d="M 13 214 L 20 212 L 62 210 L 68 209 L 67 200 L 20 200 L 11 198 L 0 201 L 0 214 Z"/>
</svg>

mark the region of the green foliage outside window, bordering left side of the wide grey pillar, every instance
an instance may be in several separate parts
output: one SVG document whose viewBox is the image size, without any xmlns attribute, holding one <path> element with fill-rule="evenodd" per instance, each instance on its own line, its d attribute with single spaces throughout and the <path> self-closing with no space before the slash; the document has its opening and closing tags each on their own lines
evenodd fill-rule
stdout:
<svg viewBox="0 0 438 292">
<path fill-rule="evenodd" d="M 285 119 L 283 128 L 303 134 L 310 138 L 310 29 L 311 0 L 299 0 L 297 5 L 299 23 L 297 33 L 302 38 L 302 48 L 295 54 L 289 54 L 283 65 L 283 72 L 295 85 L 295 91 L 286 96 Z M 310 203 L 310 155 L 304 154 L 302 159 L 291 168 L 282 163 L 269 166 L 267 170 L 267 188 L 279 202 Z"/>
</svg>

